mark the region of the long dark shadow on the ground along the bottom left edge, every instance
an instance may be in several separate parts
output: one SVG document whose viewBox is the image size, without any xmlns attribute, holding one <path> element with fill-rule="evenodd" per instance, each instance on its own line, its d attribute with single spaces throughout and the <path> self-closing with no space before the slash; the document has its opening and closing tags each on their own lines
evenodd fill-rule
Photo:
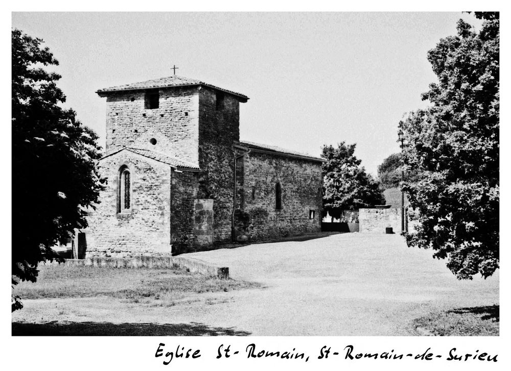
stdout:
<svg viewBox="0 0 511 371">
<path fill-rule="evenodd" d="M 246 336 L 250 332 L 235 328 L 190 324 L 137 324 L 110 322 L 57 322 L 43 324 L 12 323 L 12 336 Z"/>
</svg>

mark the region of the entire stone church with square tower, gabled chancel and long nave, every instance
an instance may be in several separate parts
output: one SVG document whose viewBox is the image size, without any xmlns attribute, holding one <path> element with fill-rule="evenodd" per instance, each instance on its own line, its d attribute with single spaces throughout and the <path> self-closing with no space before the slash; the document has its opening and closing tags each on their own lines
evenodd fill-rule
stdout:
<svg viewBox="0 0 511 371">
<path fill-rule="evenodd" d="M 322 158 L 240 141 L 246 95 L 178 76 L 106 97 L 108 178 L 86 256 L 179 254 L 320 231 Z"/>
</svg>

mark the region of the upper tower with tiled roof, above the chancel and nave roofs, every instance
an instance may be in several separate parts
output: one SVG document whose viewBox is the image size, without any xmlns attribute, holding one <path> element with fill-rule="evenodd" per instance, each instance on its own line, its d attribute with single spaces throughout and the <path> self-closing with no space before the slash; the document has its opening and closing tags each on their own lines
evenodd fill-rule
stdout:
<svg viewBox="0 0 511 371">
<path fill-rule="evenodd" d="M 179 76 L 97 93 L 107 98 L 107 155 L 131 147 L 196 164 L 200 139 L 239 140 L 239 103 L 248 100 L 243 94 Z"/>
</svg>

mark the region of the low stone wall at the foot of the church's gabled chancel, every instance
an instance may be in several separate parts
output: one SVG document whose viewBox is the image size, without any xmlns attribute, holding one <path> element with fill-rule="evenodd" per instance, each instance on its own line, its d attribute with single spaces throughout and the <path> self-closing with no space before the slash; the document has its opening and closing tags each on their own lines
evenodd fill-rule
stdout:
<svg viewBox="0 0 511 371">
<path fill-rule="evenodd" d="M 57 264 L 57 263 L 54 263 Z M 182 267 L 190 273 L 208 277 L 229 278 L 229 268 L 219 267 L 202 260 L 174 256 L 137 256 L 133 258 L 90 257 L 85 259 L 66 259 L 66 265 L 97 266 L 111 268 L 155 268 L 165 269 Z"/>
</svg>

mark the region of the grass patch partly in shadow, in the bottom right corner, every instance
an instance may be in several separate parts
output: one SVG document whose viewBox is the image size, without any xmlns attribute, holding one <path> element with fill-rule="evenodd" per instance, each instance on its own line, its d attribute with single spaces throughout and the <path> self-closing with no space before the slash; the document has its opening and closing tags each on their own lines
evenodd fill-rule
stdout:
<svg viewBox="0 0 511 371">
<path fill-rule="evenodd" d="M 457 308 L 416 319 L 415 326 L 437 336 L 498 336 L 499 317 L 499 305 Z"/>
</svg>

